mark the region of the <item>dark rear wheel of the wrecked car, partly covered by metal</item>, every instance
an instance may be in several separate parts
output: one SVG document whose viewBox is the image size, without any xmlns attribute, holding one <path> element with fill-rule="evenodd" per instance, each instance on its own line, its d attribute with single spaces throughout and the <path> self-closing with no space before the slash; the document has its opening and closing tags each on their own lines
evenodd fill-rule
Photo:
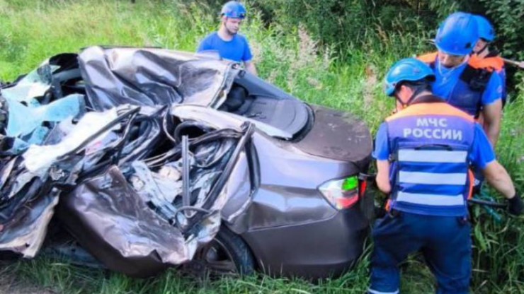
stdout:
<svg viewBox="0 0 524 294">
<path fill-rule="evenodd" d="M 255 262 L 246 242 L 222 227 L 215 239 L 199 249 L 184 268 L 198 276 L 248 275 L 253 273 Z"/>
</svg>

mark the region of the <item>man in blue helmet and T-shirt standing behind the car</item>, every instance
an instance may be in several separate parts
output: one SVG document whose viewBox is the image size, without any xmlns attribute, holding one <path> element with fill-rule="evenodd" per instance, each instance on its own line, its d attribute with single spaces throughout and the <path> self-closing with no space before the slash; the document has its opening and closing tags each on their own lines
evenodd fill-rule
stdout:
<svg viewBox="0 0 524 294">
<path fill-rule="evenodd" d="M 240 2 L 229 1 L 224 4 L 220 12 L 220 28 L 200 41 L 197 52 L 217 50 L 224 59 L 244 62 L 246 71 L 256 75 L 249 42 L 244 35 L 238 33 L 245 17 L 246 8 Z"/>
</svg>

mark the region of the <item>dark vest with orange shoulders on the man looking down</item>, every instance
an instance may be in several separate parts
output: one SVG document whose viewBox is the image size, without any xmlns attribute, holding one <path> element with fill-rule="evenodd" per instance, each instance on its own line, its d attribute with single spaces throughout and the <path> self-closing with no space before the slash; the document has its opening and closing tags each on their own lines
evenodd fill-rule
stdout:
<svg viewBox="0 0 524 294">
<path fill-rule="evenodd" d="M 422 55 L 418 59 L 426 62 L 435 71 L 436 52 Z M 491 78 L 491 73 L 494 70 L 490 67 L 482 67 L 486 66 L 483 62 L 475 61 L 479 61 L 479 58 L 469 59 L 467 66 L 460 74 L 460 78 L 445 99 L 450 105 L 477 118 L 482 109 L 482 94 L 486 90 L 489 78 Z"/>
</svg>

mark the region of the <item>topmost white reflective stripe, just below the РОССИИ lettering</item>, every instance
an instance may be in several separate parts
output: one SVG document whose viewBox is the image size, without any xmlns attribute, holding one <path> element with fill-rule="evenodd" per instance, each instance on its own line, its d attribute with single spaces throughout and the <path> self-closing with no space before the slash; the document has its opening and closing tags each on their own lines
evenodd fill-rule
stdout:
<svg viewBox="0 0 524 294">
<path fill-rule="evenodd" d="M 467 151 L 399 150 L 399 161 L 416 163 L 465 163 Z"/>
</svg>

